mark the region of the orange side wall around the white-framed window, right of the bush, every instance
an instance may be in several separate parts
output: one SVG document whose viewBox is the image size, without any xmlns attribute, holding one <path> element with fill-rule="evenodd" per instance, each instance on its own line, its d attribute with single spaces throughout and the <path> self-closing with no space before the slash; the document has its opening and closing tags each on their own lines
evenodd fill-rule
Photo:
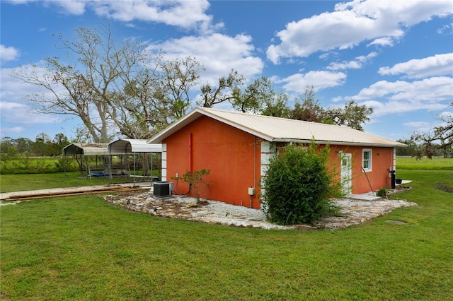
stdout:
<svg viewBox="0 0 453 301">
<path fill-rule="evenodd" d="M 331 146 L 333 164 L 340 167 L 338 151 L 352 154 L 352 194 L 363 194 L 369 191 L 377 191 L 382 187 L 391 185 L 389 170 L 394 170 L 394 148 L 378 148 L 370 146 Z M 362 150 L 372 150 L 372 171 L 362 170 Z M 368 182 L 369 181 L 369 182 Z M 370 187 L 371 184 L 371 187 Z"/>
</svg>

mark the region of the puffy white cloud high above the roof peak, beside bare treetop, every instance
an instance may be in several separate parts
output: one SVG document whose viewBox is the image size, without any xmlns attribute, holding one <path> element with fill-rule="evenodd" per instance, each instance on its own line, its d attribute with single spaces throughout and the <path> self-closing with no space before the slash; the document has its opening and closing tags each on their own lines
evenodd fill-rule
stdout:
<svg viewBox="0 0 453 301">
<path fill-rule="evenodd" d="M 187 36 L 180 39 L 166 40 L 161 44 L 150 45 L 152 52 L 166 49 L 166 57 L 195 57 L 206 72 L 202 74 L 202 83 L 218 83 L 219 77 L 226 76 L 231 69 L 246 78 L 253 78 L 263 71 L 264 63 L 253 55 L 255 48 L 249 35 L 229 37 L 219 33 L 207 36 Z"/>
</svg>

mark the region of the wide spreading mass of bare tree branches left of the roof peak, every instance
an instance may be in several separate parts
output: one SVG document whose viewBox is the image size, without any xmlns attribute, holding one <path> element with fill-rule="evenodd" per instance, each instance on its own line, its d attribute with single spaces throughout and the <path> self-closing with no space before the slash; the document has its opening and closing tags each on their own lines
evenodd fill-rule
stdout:
<svg viewBox="0 0 453 301">
<path fill-rule="evenodd" d="M 36 112 L 78 117 L 93 142 L 108 142 L 118 130 L 129 138 L 149 137 L 188 107 L 188 91 L 201 70 L 195 59 L 165 61 L 143 43 L 117 44 L 108 25 L 75 33 L 73 40 L 57 37 L 70 63 L 47 57 L 45 66 L 12 73 L 40 87 L 28 95 Z"/>
</svg>

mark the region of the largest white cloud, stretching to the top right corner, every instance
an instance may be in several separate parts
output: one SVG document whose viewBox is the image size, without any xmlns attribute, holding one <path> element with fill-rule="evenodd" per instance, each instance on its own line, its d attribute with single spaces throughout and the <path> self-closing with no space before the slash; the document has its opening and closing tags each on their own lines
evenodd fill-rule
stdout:
<svg viewBox="0 0 453 301">
<path fill-rule="evenodd" d="M 308 57 L 318 51 L 348 49 L 371 40 L 392 45 L 411 25 L 452 14 L 450 0 L 367 0 L 336 4 L 335 11 L 288 23 L 276 33 L 280 45 L 268 47 L 268 59 Z"/>
</svg>

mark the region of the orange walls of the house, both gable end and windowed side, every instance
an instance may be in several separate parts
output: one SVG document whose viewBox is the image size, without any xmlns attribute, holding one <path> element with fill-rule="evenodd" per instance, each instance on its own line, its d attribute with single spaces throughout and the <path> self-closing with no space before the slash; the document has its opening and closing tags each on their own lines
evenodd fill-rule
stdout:
<svg viewBox="0 0 453 301">
<path fill-rule="evenodd" d="M 176 194 L 187 194 L 188 185 L 172 177 L 188 170 L 209 169 L 210 175 L 204 178 L 208 184 L 201 189 L 202 198 L 260 208 L 260 181 L 265 177 L 268 160 L 279 147 L 203 116 L 164 139 L 162 179 L 174 182 Z M 372 171 L 366 173 L 362 171 L 363 148 L 372 149 Z M 390 186 L 388 168 L 394 170 L 394 148 L 331 146 L 331 167 L 339 177 L 338 151 L 352 154 L 352 194 Z M 253 196 L 248 194 L 249 187 L 255 189 Z M 190 195 L 194 195 L 193 191 Z"/>
</svg>

